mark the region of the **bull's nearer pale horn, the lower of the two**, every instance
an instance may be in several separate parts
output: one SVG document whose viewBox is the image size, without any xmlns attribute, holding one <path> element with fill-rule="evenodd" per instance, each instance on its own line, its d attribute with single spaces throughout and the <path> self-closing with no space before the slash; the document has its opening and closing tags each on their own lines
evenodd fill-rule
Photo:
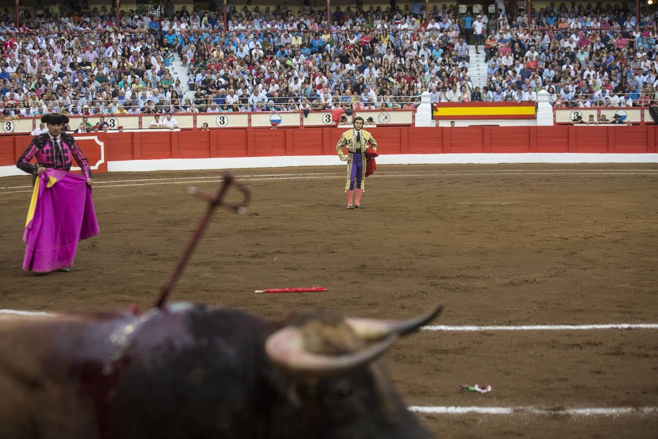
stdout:
<svg viewBox="0 0 658 439">
<path fill-rule="evenodd" d="M 328 375 L 369 363 L 390 348 L 397 338 L 397 334 L 391 334 L 386 340 L 356 352 L 324 355 L 306 351 L 301 330 L 287 326 L 267 338 L 265 353 L 273 363 L 293 373 Z"/>
</svg>

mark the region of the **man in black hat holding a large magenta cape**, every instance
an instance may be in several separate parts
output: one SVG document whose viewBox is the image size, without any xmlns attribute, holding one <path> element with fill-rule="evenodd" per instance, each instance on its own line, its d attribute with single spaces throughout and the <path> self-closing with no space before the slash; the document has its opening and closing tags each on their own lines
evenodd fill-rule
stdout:
<svg viewBox="0 0 658 439">
<path fill-rule="evenodd" d="M 91 168 L 73 136 L 62 132 L 67 116 L 49 113 L 41 122 L 48 131 L 35 136 L 16 163 L 35 176 L 23 234 L 27 244 L 23 269 L 68 272 L 78 241 L 99 231 L 91 200 Z M 32 158 L 36 158 L 34 165 Z M 68 172 L 72 159 L 82 169 L 82 176 Z"/>
</svg>

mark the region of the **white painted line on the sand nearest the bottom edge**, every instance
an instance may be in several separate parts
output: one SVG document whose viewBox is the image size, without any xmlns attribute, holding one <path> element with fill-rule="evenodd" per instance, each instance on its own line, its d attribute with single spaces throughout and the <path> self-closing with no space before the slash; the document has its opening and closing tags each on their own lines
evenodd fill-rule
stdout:
<svg viewBox="0 0 658 439">
<path fill-rule="evenodd" d="M 454 407 L 440 405 L 437 407 L 423 407 L 413 405 L 410 411 L 417 413 L 430 413 L 434 415 L 572 415 L 572 416 L 619 416 L 619 415 L 653 415 L 658 413 L 658 407 L 582 407 L 573 409 L 547 409 L 542 407 Z"/>
</svg>

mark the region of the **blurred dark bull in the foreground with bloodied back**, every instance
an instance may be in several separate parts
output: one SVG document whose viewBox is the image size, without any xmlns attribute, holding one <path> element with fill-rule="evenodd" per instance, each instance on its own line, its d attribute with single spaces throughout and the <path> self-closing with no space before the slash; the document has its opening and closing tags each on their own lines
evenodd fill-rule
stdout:
<svg viewBox="0 0 658 439">
<path fill-rule="evenodd" d="M 0 438 L 432 438 L 376 357 L 439 312 L 366 336 L 321 311 L 284 324 L 186 303 L 0 315 Z M 290 328 L 311 360 L 268 348 Z"/>
</svg>

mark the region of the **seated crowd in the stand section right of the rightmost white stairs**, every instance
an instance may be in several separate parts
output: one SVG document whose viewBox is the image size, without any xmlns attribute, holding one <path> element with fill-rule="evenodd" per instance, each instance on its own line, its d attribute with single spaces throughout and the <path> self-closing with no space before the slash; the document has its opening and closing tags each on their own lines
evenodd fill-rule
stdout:
<svg viewBox="0 0 658 439">
<path fill-rule="evenodd" d="M 642 7 L 636 21 L 634 2 L 550 3 L 530 16 L 499 8 L 486 86 L 433 88 L 432 100 L 536 102 L 545 90 L 555 107 L 646 107 L 658 91 L 656 12 Z"/>
</svg>

